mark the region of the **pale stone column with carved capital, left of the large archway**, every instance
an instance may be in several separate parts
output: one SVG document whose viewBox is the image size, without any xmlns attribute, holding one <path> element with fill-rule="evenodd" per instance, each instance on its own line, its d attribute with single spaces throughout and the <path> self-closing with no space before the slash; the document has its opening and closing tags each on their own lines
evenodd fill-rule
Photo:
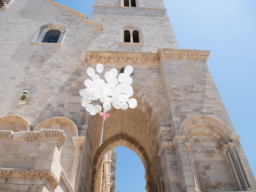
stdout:
<svg viewBox="0 0 256 192">
<path fill-rule="evenodd" d="M 76 180 L 78 176 L 78 169 L 80 166 L 80 158 L 82 153 L 82 148 L 85 143 L 85 137 L 74 136 L 72 137 L 73 144 L 74 144 L 74 156 L 73 156 L 73 163 L 71 168 L 70 174 L 70 183 L 74 189 L 76 189 Z"/>
</svg>

